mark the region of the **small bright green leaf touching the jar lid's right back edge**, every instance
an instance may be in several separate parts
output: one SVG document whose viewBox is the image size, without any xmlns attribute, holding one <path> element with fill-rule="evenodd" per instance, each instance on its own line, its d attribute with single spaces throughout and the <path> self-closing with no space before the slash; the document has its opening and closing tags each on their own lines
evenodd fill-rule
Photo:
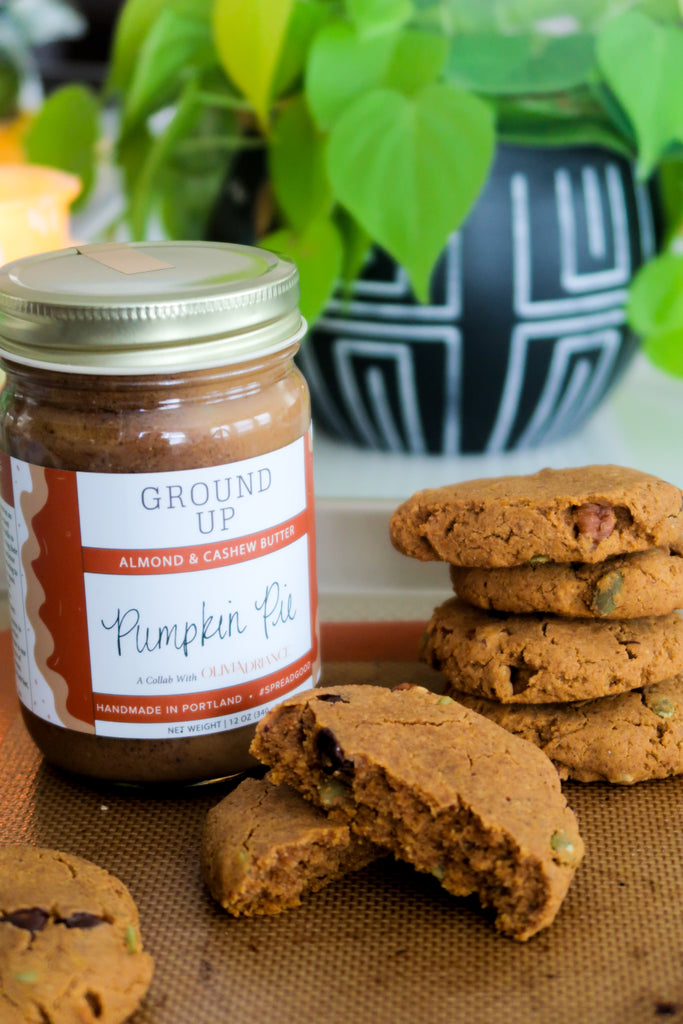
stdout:
<svg viewBox="0 0 683 1024">
<path fill-rule="evenodd" d="M 342 244 L 335 225 L 327 218 L 318 218 L 300 234 L 274 231 L 259 244 L 294 260 L 301 283 L 301 312 L 308 324 L 314 324 L 332 295 L 342 266 Z"/>
</svg>

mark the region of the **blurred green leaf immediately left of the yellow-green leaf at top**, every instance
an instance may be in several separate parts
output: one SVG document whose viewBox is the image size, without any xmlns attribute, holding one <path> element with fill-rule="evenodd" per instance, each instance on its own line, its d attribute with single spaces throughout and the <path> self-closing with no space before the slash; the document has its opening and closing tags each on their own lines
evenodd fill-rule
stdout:
<svg viewBox="0 0 683 1024">
<path fill-rule="evenodd" d="M 207 23 L 171 8 L 162 11 L 140 47 L 126 91 L 124 130 L 175 99 L 188 69 L 197 72 L 213 63 L 215 54 Z"/>
</svg>

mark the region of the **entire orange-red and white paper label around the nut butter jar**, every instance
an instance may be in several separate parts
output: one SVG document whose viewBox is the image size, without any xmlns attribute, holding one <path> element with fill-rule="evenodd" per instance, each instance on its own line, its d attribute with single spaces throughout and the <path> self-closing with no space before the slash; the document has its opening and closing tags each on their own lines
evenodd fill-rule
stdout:
<svg viewBox="0 0 683 1024">
<path fill-rule="evenodd" d="M 1 469 L 17 689 L 35 715 L 177 738 L 315 684 L 310 433 L 178 472 Z"/>
</svg>

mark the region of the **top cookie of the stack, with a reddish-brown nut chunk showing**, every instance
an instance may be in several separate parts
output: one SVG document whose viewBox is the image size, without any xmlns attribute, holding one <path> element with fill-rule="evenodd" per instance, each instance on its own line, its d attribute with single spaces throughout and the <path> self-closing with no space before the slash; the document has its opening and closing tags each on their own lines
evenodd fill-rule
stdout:
<svg viewBox="0 0 683 1024">
<path fill-rule="evenodd" d="M 674 544 L 683 534 L 683 496 L 621 466 L 543 469 L 420 490 L 395 510 L 389 532 L 398 551 L 423 561 L 599 562 Z"/>
</svg>

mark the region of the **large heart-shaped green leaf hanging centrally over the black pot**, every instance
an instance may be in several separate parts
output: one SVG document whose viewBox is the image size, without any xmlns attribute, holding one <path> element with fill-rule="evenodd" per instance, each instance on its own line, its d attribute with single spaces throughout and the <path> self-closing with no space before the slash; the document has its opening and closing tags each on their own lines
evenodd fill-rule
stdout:
<svg viewBox="0 0 683 1024">
<path fill-rule="evenodd" d="M 494 153 L 490 109 L 451 85 L 414 97 L 360 96 L 335 124 L 333 190 L 372 239 L 401 263 L 418 298 L 483 185 Z"/>
</svg>

